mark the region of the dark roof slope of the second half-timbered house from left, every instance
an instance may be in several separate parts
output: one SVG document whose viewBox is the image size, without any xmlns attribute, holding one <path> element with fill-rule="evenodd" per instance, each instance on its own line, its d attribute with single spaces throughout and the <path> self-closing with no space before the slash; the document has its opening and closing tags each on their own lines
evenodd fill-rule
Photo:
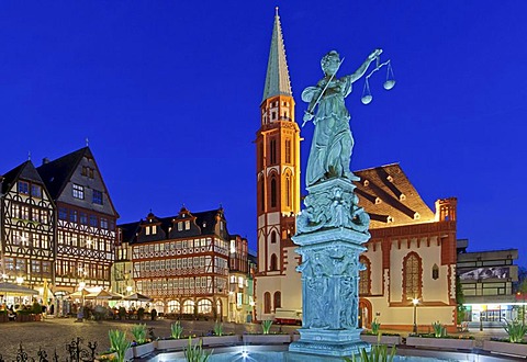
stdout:
<svg viewBox="0 0 527 362">
<path fill-rule="evenodd" d="M 89 147 L 78 149 L 37 168 L 53 200 L 57 200 L 60 196 L 60 193 L 85 156 L 93 158 Z"/>
</svg>

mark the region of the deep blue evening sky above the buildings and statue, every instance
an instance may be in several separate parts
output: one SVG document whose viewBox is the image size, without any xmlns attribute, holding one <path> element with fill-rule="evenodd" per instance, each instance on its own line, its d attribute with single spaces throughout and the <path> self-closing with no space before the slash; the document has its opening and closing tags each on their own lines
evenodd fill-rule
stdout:
<svg viewBox="0 0 527 362">
<path fill-rule="evenodd" d="M 375 47 L 396 87 L 348 98 L 352 169 L 401 162 L 425 202 L 458 197 L 470 250 L 519 248 L 527 202 L 527 2 L 0 2 L 0 173 L 90 147 L 121 214 L 225 207 L 256 249 L 255 133 L 274 7 L 296 99 L 330 49 Z M 305 167 L 312 126 L 302 129 Z M 303 182 L 302 182 L 303 183 Z"/>
</svg>

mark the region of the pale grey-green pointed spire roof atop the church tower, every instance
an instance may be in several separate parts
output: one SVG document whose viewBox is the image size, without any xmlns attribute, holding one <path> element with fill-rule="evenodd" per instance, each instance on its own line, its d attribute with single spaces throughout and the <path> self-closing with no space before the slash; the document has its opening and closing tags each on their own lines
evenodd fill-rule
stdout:
<svg viewBox="0 0 527 362">
<path fill-rule="evenodd" d="M 289 80 L 288 63 L 285 60 L 282 26 L 280 25 L 280 16 L 278 15 L 277 7 L 262 101 L 279 94 L 293 95 L 291 92 L 291 82 Z"/>
</svg>

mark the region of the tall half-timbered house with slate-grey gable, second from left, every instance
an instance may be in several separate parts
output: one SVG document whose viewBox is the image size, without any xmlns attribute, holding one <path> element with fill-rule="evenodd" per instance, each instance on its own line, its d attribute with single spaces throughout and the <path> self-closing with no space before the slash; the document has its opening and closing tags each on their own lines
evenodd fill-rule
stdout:
<svg viewBox="0 0 527 362">
<path fill-rule="evenodd" d="M 119 217 L 89 147 L 37 168 L 57 206 L 55 284 L 110 287 Z"/>
</svg>

